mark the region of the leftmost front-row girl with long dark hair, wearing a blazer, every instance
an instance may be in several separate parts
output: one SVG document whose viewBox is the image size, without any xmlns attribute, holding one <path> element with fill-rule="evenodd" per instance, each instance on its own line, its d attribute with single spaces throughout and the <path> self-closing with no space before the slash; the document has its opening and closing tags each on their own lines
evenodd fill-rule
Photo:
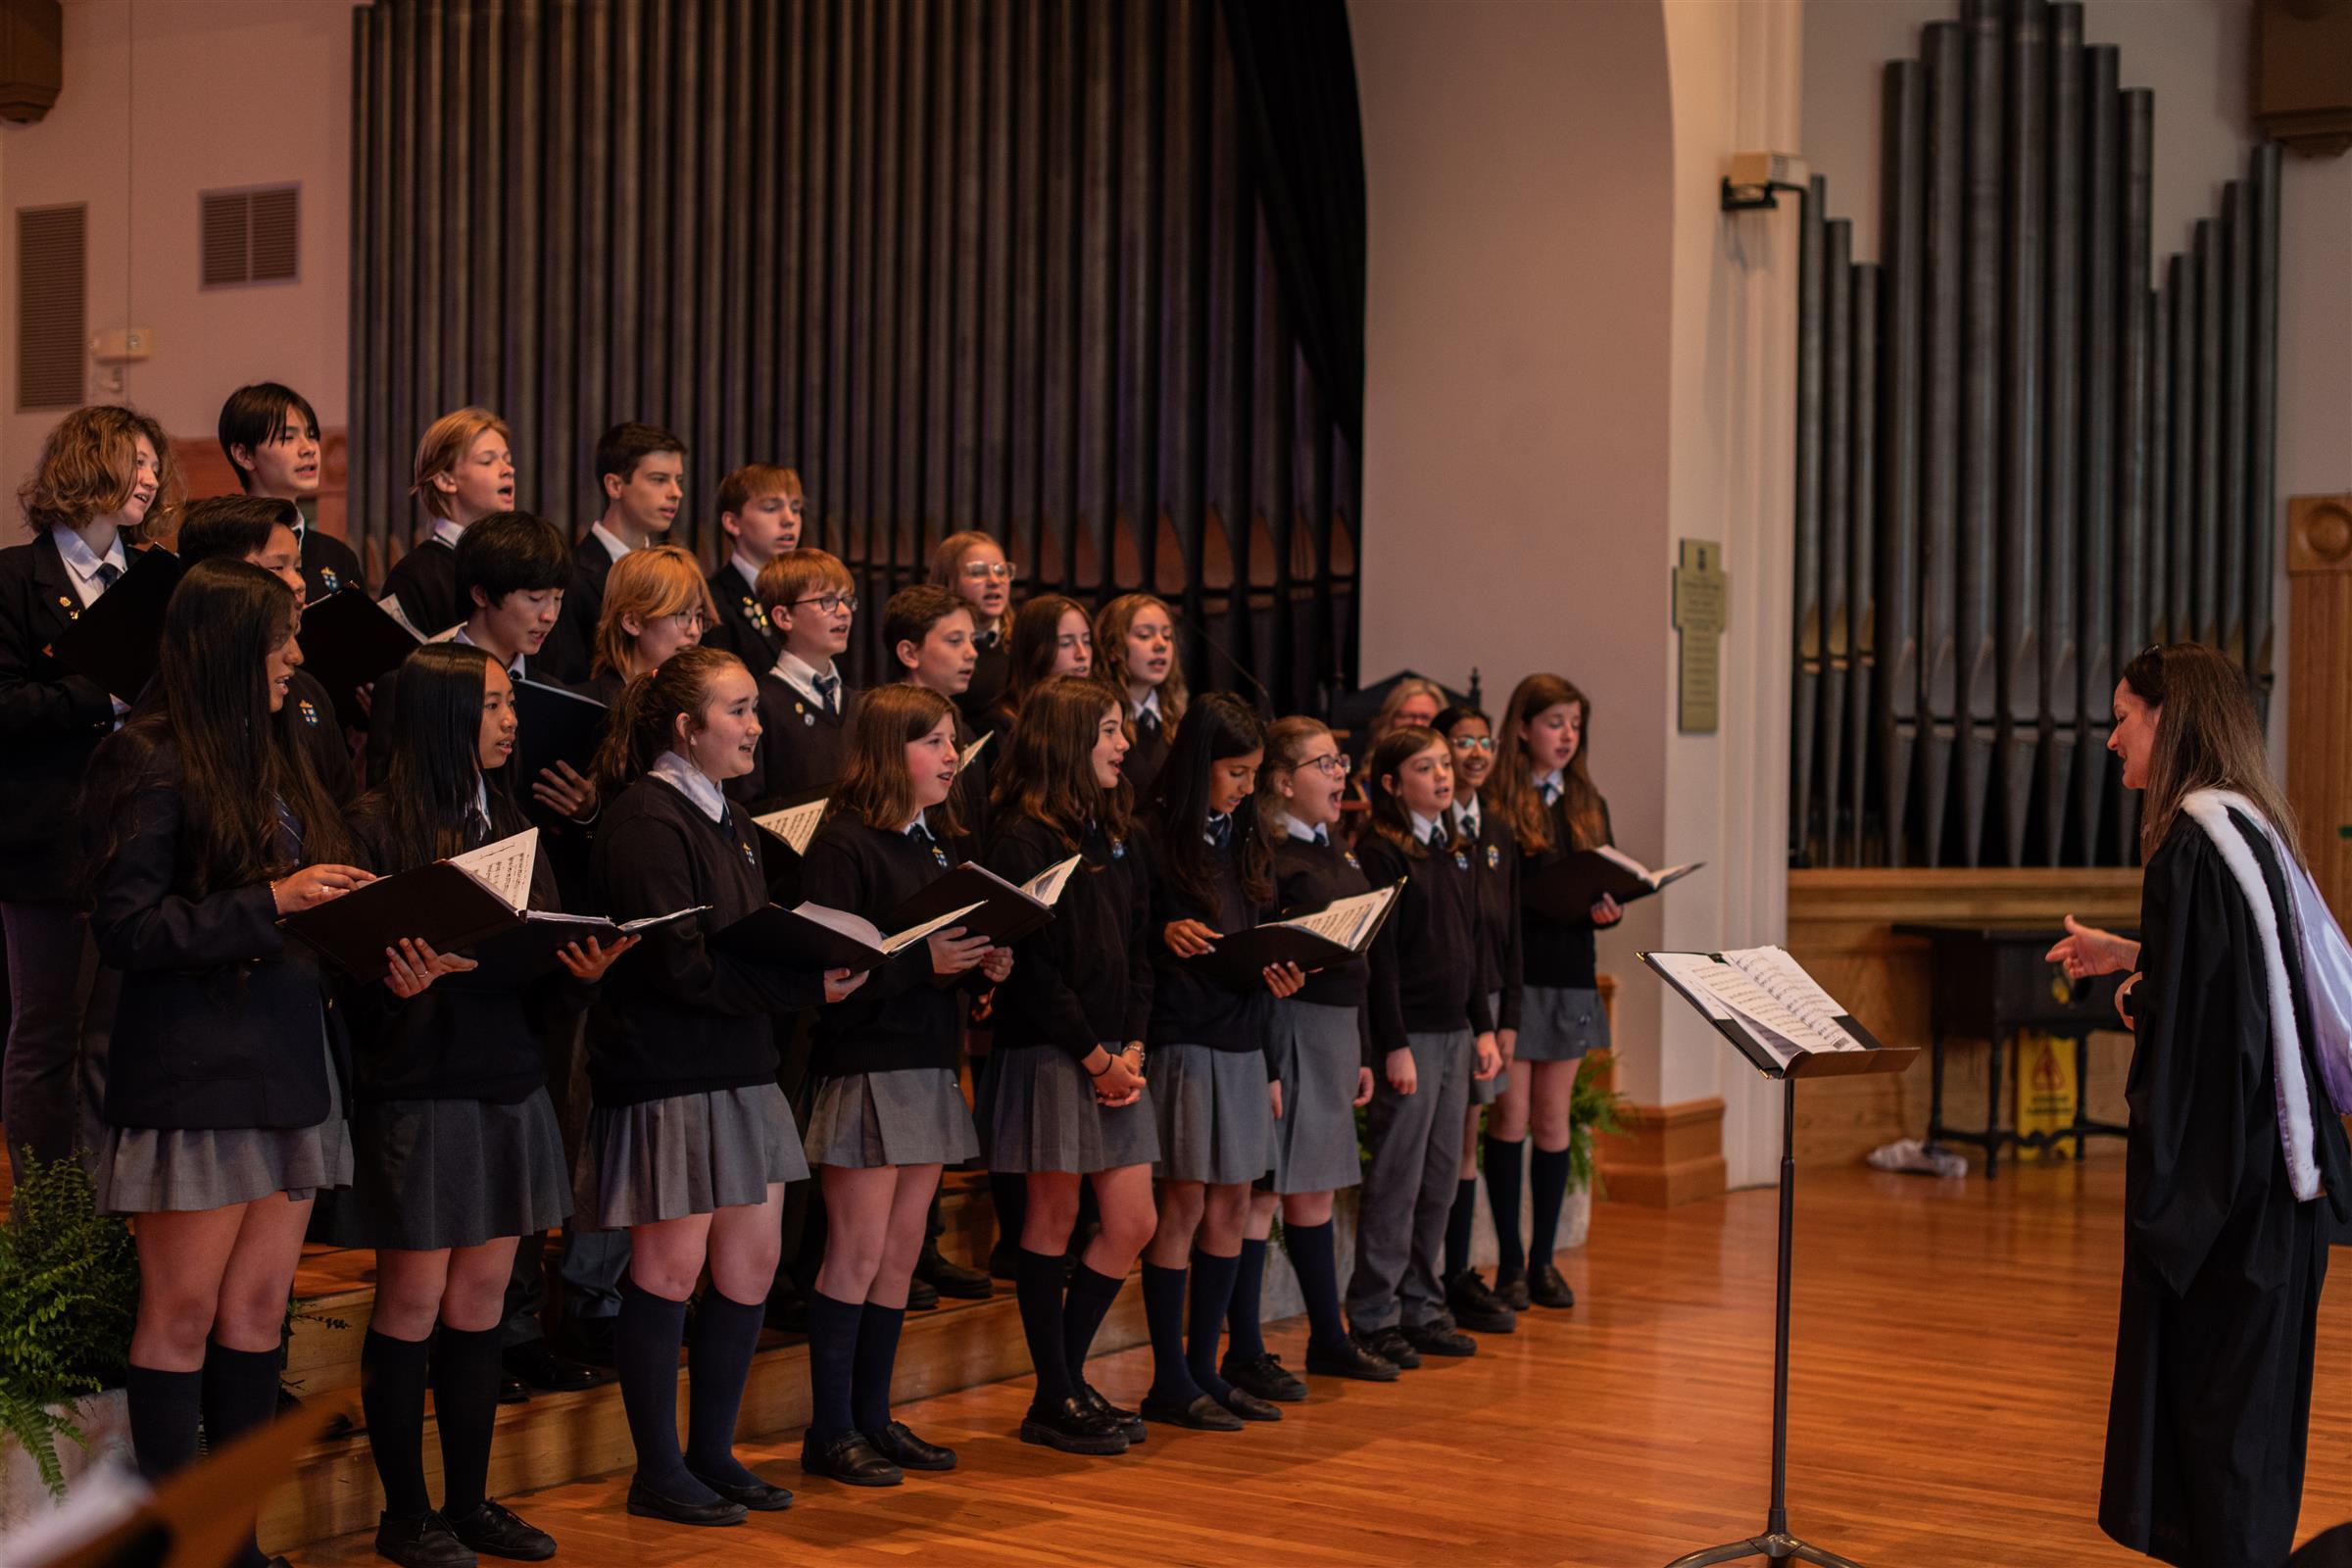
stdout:
<svg viewBox="0 0 2352 1568">
<path fill-rule="evenodd" d="M 160 679 L 82 795 L 89 929 L 120 976 L 96 1197 L 134 1215 L 129 1418 L 151 1476 L 278 1408 L 278 1342 L 310 1199 L 350 1182 L 343 1018 L 280 929 L 369 882 L 308 755 L 273 724 L 301 663 L 294 590 L 198 562 Z M 402 943 L 393 990 L 445 959 Z M 261 1563 L 247 1537 L 242 1563 Z"/>
</svg>

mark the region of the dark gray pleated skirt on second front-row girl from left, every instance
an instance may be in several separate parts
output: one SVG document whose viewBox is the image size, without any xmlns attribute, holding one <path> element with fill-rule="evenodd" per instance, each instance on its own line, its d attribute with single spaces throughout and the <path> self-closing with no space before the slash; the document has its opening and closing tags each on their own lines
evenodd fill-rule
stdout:
<svg viewBox="0 0 2352 1568">
<path fill-rule="evenodd" d="M 350 1119 L 358 1171 L 327 1234 L 341 1246 L 430 1253 L 536 1237 L 572 1215 L 555 1100 L 386 1100 Z"/>
</svg>

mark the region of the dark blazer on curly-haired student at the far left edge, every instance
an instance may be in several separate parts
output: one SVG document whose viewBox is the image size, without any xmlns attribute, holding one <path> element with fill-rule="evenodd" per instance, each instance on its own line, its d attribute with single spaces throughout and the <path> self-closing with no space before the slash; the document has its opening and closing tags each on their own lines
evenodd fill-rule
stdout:
<svg viewBox="0 0 2352 1568">
<path fill-rule="evenodd" d="M 115 724 L 106 691 L 56 658 L 82 616 L 56 536 L 0 550 L 0 900 L 73 898 L 73 797 Z"/>
</svg>

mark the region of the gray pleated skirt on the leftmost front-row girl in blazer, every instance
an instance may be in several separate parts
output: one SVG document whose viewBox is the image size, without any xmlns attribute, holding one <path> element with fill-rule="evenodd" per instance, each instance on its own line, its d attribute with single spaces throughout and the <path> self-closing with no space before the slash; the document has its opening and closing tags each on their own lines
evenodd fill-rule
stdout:
<svg viewBox="0 0 2352 1568">
<path fill-rule="evenodd" d="M 111 1126 L 99 1150 L 96 1197 L 101 1213 L 198 1213 L 273 1192 L 299 1204 L 348 1185 L 350 1124 L 329 1051 L 327 1119 L 318 1126 Z"/>
</svg>

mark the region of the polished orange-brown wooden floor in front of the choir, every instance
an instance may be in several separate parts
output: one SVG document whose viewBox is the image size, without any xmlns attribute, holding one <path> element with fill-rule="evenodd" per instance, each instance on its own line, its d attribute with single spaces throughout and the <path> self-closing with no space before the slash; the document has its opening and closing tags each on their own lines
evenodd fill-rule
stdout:
<svg viewBox="0 0 2352 1568">
<path fill-rule="evenodd" d="M 2122 1159 L 1936 1182 L 1806 1171 L 1797 1204 L 1790 1523 L 1867 1568 L 2145 1561 L 2096 1526 Z M 1399 1387 L 1317 1382 L 1275 1427 L 1169 1434 L 1117 1460 L 1021 1446 L 1025 1382 L 901 1410 L 962 1450 L 896 1490 L 802 1483 L 797 1434 L 743 1458 L 788 1514 L 684 1530 L 621 1512 L 626 1474 L 510 1500 L 560 1563 L 1576 1563 L 1658 1568 L 1764 1523 L 1771 1192 L 1604 1206 L 1536 1312 Z M 1270 1335 L 1291 1366 L 1303 1326 Z M 1096 1363 L 1134 1399 L 1148 1352 Z M 2352 1519 L 2352 1307 L 2319 1333 L 2300 1537 Z M 296 1563 L 379 1561 L 365 1537 Z"/>
</svg>

